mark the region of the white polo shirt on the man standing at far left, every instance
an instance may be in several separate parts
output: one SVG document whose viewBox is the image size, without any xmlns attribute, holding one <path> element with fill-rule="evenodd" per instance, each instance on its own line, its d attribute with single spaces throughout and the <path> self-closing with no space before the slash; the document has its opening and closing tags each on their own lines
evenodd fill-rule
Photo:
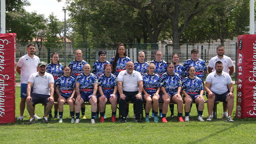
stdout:
<svg viewBox="0 0 256 144">
<path fill-rule="evenodd" d="M 32 59 L 28 54 L 25 56 L 22 56 L 19 59 L 19 62 L 17 64 L 17 67 L 21 67 L 21 83 L 26 83 L 29 78 L 29 76 L 32 73 L 36 73 L 38 66 L 38 63 L 40 63 L 40 59 L 38 56 L 34 55 L 34 58 Z"/>
</svg>

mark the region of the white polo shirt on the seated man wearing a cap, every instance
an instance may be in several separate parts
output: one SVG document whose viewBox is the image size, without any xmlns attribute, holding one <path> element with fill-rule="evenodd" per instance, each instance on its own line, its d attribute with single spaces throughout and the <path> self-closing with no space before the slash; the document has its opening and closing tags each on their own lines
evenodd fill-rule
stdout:
<svg viewBox="0 0 256 144">
<path fill-rule="evenodd" d="M 28 82 L 33 84 L 33 94 L 45 94 L 50 95 L 49 83 L 54 83 L 54 79 L 50 73 L 45 72 L 41 77 L 38 72 L 32 73 L 28 79 Z"/>
</svg>

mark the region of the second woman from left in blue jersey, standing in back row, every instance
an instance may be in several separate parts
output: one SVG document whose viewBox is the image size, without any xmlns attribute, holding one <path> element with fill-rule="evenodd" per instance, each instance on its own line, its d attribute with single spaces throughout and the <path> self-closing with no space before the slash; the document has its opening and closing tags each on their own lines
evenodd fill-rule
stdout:
<svg viewBox="0 0 256 144">
<path fill-rule="evenodd" d="M 70 75 L 76 79 L 80 73 L 84 73 L 83 67 L 84 67 L 84 64 L 86 64 L 87 62 L 82 60 L 82 50 L 79 50 L 79 49 L 76 50 L 75 56 L 76 56 L 76 59 L 69 63 L 69 67 L 71 69 Z M 75 94 L 75 97 L 76 97 L 76 94 Z M 82 119 L 86 119 L 84 115 L 85 105 L 81 106 L 81 111 L 82 111 Z"/>
</svg>

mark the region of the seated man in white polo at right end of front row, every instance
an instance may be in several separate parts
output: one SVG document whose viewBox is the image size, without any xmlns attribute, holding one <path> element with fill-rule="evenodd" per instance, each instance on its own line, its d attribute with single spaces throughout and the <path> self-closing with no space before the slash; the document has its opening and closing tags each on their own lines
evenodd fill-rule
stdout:
<svg viewBox="0 0 256 144">
<path fill-rule="evenodd" d="M 234 107 L 234 88 L 230 75 L 223 70 L 222 62 L 215 63 L 216 71 L 210 73 L 206 77 L 206 97 L 208 98 L 208 118 L 207 121 L 212 121 L 212 110 L 214 101 L 222 101 L 227 103 L 228 117 L 227 121 L 233 121 L 231 114 Z M 228 92 L 229 89 L 229 92 Z"/>
</svg>

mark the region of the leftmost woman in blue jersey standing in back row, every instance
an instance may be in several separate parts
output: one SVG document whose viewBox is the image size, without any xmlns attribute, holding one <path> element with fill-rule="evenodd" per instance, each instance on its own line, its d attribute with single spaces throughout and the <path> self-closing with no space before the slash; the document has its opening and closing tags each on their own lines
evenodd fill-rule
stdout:
<svg viewBox="0 0 256 144">
<path fill-rule="evenodd" d="M 52 74 L 54 81 L 58 79 L 61 75 L 63 75 L 63 65 L 59 63 L 59 54 L 57 52 L 52 53 L 52 63 L 46 65 L 46 72 Z M 58 101 L 58 95 L 56 91 L 54 92 L 54 101 Z M 58 104 L 54 105 L 54 117 L 59 118 L 58 116 Z M 52 112 L 49 113 L 49 119 L 53 119 Z"/>
</svg>

